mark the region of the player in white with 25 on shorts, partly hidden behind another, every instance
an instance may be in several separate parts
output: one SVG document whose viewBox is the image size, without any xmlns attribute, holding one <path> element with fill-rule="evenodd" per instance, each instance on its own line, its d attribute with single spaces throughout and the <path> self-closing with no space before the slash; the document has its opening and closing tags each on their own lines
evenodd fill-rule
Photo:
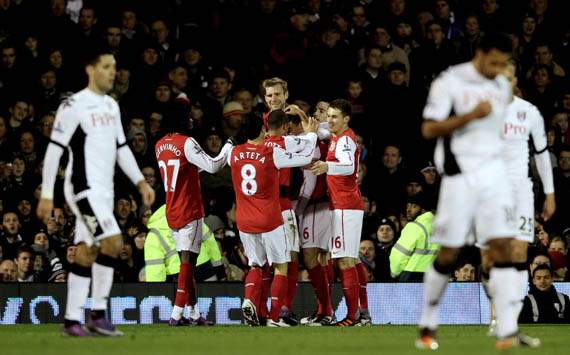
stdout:
<svg viewBox="0 0 570 355">
<path fill-rule="evenodd" d="M 509 80 L 511 88 L 515 91 L 518 81 L 516 64 L 509 62 L 504 74 Z M 556 202 L 554 199 L 552 164 L 544 130 L 544 119 L 536 106 L 520 97 L 513 96 L 505 113 L 502 134 L 505 140 L 504 157 L 507 164 L 507 176 L 514 189 L 515 218 L 518 227 L 517 234 L 511 242 L 511 259 L 519 275 L 517 287 L 520 292 L 520 305 L 516 310 L 516 317 L 518 318 L 528 285 L 528 244 L 534 241 L 534 193 L 532 181 L 529 178 L 529 157 L 531 153 L 534 153 L 534 160 L 545 195 L 541 213 L 541 218 L 544 221 L 549 220 L 554 214 Z M 533 152 L 529 149 L 529 140 L 531 138 Z M 481 256 L 483 273 L 485 274 L 488 273 L 491 267 L 489 252 L 482 249 Z M 495 320 L 492 319 L 489 329 L 490 335 L 495 334 L 495 328 Z M 530 341 L 530 339 L 526 340 Z"/>
</svg>

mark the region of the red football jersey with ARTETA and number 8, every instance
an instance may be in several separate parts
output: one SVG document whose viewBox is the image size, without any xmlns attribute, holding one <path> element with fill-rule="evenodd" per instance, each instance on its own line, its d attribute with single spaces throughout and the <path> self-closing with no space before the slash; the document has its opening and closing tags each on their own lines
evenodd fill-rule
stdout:
<svg viewBox="0 0 570 355">
<path fill-rule="evenodd" d="M 279 205 L 279 170 L 273 147 L 240 144 L 230 155 L 236 194 L 236 222 L 246 233 L 265 233 L 283 224 Z"/>
</svg>

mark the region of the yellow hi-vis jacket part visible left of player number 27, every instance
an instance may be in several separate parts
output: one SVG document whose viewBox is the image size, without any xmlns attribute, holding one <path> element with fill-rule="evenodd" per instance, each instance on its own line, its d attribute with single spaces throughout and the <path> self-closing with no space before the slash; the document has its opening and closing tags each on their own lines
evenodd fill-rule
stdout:
<svg viewBox="0 0 570 355">
<path fill-rule="evenodd" d="M 146 282 L 165 282 L 168 275 L 180 272 L 180 257 L 166 220 L 163 205 L 150 216 L 148 234 L 144 242 Z"/>
</svg>

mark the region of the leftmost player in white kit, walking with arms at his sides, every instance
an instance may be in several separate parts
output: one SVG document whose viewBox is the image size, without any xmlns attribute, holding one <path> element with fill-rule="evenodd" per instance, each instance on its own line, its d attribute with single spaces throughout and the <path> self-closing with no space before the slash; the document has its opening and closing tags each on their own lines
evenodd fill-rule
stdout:
<svg viewBox="0 0 570 355">
<path fill-rule="evenodd" d="M 76 262 L 67 281 L 63 335 L 96 333 L 120 336 L 105 317 L 114 268 L 123 237 L 113 215 L 115 163 L 137 185 L 145 205 L 154 191 L 145 182 L 125 138 L 119 106 L 106 95 L 115 81 L 116 62 L 108 51 L 94 49 L 85 62 L 87 88 L 63 102 L 56 115 L 43 167 L 42 193 L 37 214 L 45 220 L 53 211 L 54 184 L 60 158 L 67 150 L 64 194 L 75 214 Z M 87 331 L 80 324 L 91 284 L 92 307 Z"/>
</svg>

